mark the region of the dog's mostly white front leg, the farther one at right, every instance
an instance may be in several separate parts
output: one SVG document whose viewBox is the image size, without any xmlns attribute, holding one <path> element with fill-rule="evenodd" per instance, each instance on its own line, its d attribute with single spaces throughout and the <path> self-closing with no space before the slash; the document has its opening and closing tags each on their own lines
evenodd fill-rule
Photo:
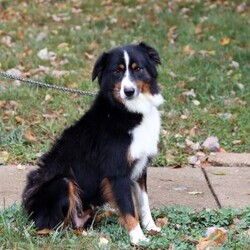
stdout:
<svg viewBox="0 0 250 250">
<path fill-rule="evenodd" d="M 152 218 L 148 194 L 147 194 L 147 172 L 142 174 L 142 176 L 134 182 L 134 194 L 138 205 L 138 212 L 141 219 L 142 226 L 147 229 L 147 231 L 153 230 L 160 232 L 161 229 L 155 225 Z"/>
</svg>

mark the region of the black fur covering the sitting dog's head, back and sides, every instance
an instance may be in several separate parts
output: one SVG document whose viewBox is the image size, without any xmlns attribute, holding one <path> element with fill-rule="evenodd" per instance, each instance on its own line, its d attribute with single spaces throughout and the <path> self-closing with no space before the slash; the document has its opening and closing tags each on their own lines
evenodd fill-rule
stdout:
<svg viewBox="0 0 250 250">
<path fill-rule="evenodd" d="M 130 131 L 141 123 L 143 115 L 130 112 L 113 95 L 122 77 L 116 68 L 122 63 L 124 48 L 147 72 L 138 70 L 133 78 L 149 83 L 150 92 L 158 93 L 156 65 L 160 58 L 148 45 L 118 47 L 98 58 L 92 79 L 98 78 L 100 91 L 92 106 L 64 130 L 41 157 L 39 168 L 28 175 L 23 204 L 39 229 L 56 228 L 66 219 L 74 223 L 74 209 L 81 217 L 84 211 L 110 201 L 107 196 L 114 198 L 121 214 L 135 216 L 130 176 L 136 160 L 130 162 L 128 149 Z M 104 180 L 108 180 L 111 194 L 104 194 Z"/>
</svg>

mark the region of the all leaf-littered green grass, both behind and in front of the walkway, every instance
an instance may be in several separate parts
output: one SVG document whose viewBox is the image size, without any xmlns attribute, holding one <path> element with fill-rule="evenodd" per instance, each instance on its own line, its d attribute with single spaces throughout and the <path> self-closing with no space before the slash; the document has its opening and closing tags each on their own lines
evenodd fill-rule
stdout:
<svg viewBox="0 0 250 250">
<path fill-rule="evenodd" d="M 165 98 L 160 152 L 153 164 L 185 164 L 195 153 L 186 139 L 201 144 L 211 135 L 226 151 L 250 152 L 249 13 L 243 1 L 0 0 L 0 70 L 97 91 L 91 71 L 98 55 L 145 41 L 160 53 Z M 38 56 L 45 48 L 52 52 L 49 60 Z M 7 164 L 34 164 L 91 102 L 0 78 L 0 157 Z M 250 244 L 249 208 L 169 207 L 153 216 L 169 222 L 161 235 L 149 236 L 147 249 L 195 249 L 210 226 L 229 232 L 220 249 Z M 0 249 L 98 249 L 104 235 L 106 249 L 133 248 L 116 222 L 116 216 L 104 219 L 88 237 L 70 228 L 41 237 L 14 205 L 0 211 Z"/>
</svg>

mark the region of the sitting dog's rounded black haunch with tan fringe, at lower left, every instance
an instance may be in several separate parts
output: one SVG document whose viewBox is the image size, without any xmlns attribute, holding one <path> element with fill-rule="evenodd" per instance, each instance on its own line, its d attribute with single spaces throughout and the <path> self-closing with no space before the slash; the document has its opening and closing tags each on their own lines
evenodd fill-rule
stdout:
<svg viewBox="0 0 250 250">
<path fill-rule="evenodd" d="M 25 211 L 39 229 L 64 226 L 81 211 L 77 185 L 69 178 L 46 178 L 43 169 L 32 171 L 23 191 Z"/>
</svg>

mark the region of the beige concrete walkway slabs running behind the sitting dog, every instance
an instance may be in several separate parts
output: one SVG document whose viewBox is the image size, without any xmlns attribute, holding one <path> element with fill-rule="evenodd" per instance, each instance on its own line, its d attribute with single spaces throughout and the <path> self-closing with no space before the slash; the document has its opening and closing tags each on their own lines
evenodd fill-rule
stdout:
<svg viewBox="0 0 250 250">
<path fill-rule="evenodd" d="M 206 167 L 149 168 L 151 207 L 193 209 L 250 206 L 250 154 L 215 154 Z M 220 166 L 216 166 L 220 165 Z M 26 175 L 34 166 L 0 166 L 0 209 L 20 203 Z"/>
</svg>

